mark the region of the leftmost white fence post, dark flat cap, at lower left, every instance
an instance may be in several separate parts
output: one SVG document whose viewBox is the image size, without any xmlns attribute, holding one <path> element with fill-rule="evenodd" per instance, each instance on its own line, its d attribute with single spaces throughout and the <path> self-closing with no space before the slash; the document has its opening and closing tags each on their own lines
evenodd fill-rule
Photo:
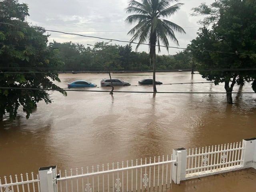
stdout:
<svg viewBox="0 0 256 192">
<path fill-rule="evenodd" d="M 57 166 L 40 167 L 38 173 L 40 180 L 40 191 L 57 192 Z"/>
</svg>

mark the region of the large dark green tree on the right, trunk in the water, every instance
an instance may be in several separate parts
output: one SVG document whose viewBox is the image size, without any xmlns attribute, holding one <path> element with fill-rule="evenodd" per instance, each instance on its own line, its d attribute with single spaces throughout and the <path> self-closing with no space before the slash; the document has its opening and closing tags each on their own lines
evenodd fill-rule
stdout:
<svg viewBox="0 0 256 192">
<path fill-rule="evenodd" d="M 255 68 L 256 56 L 256 4 L 254 0 L 219 0 L 219 19 L 213 23 L 212 30 L 202 28 L 198 37 L 192 40 L 190 48 L 232 52 L 192 51 L 201 69 L 240 69 Z M 203 10 L 201 10 L 203 12 Z M 227 102 L 232 104 L 232 90 L 235 84 L 244 85 L 253 81 L 256 91 L 256 73 L 250 70 L 201 71 L 203 78 L 214 80 L 215 84 L 224 82 Z M 231 84 L 230 84 L 231 82 Z"/>
</svg>

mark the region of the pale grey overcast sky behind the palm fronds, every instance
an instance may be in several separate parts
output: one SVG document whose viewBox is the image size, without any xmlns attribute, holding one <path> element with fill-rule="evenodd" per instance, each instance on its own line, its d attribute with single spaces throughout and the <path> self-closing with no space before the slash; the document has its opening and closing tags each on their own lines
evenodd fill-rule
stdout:
<svg viewBox="0 0 256 192">
<path fill-rule="evenodd" d="M 186 47 L 190 40 L 196 37 L 199 26 L 196 22 L 198 17 L 190 16 L 191 8 L 200 3 L 212 3 L 214 0 L 180 0 L 184 5 L 168 20 L 182 26 L 186 34 L 176 33 L 180 47 Z M 19 0 L 29 7 L 28 22 L 39 25 L 49 30 L 58 31 L 117 31 L 130 30 L 132 26 L 125 22 L 128 16 L 125 8 L 128 0 Z M 195 27 L 195 28 L 187 28 Z M 99 36 L 103 38 L 129 41 L 131 36 L 127 32 L 73 32 L 84 35 Z M 76 42 L 81 44 L 94 44 L 102 40 L 95 38 L 79 37 L 74 35 L 50 32 L 49 41 Z M 125 45 L 126 43 L 112 42 L 113 44 Z M 176 46 L 169 42 L 170 46 Z M 87 46 L 87 45 L 86 45 Z M 135 45 L 133 46 L 135 50 Z M 148 52 L 148 46 L 141 45 L 138 51 Z M 170 48 L 169 54 L 175 54 L 178 49 Z M 168 54 L 162 48 L 160 54 Z"/>
</svg>

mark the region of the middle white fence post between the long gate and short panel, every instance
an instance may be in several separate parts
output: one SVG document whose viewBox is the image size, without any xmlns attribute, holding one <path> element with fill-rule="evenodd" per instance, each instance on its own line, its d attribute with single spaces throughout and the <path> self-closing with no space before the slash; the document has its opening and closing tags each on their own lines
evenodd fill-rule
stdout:
<svg viewBox="0 0 256 192">
<path fill-rule="evenodd" d="M 175 184 L 180 184 L 180 181 L 186 177 L 187 150 L 173 149 L 172 154 L 176 158 L 176 162 L 172 163 L 172 180 Z"/>
</svg>

